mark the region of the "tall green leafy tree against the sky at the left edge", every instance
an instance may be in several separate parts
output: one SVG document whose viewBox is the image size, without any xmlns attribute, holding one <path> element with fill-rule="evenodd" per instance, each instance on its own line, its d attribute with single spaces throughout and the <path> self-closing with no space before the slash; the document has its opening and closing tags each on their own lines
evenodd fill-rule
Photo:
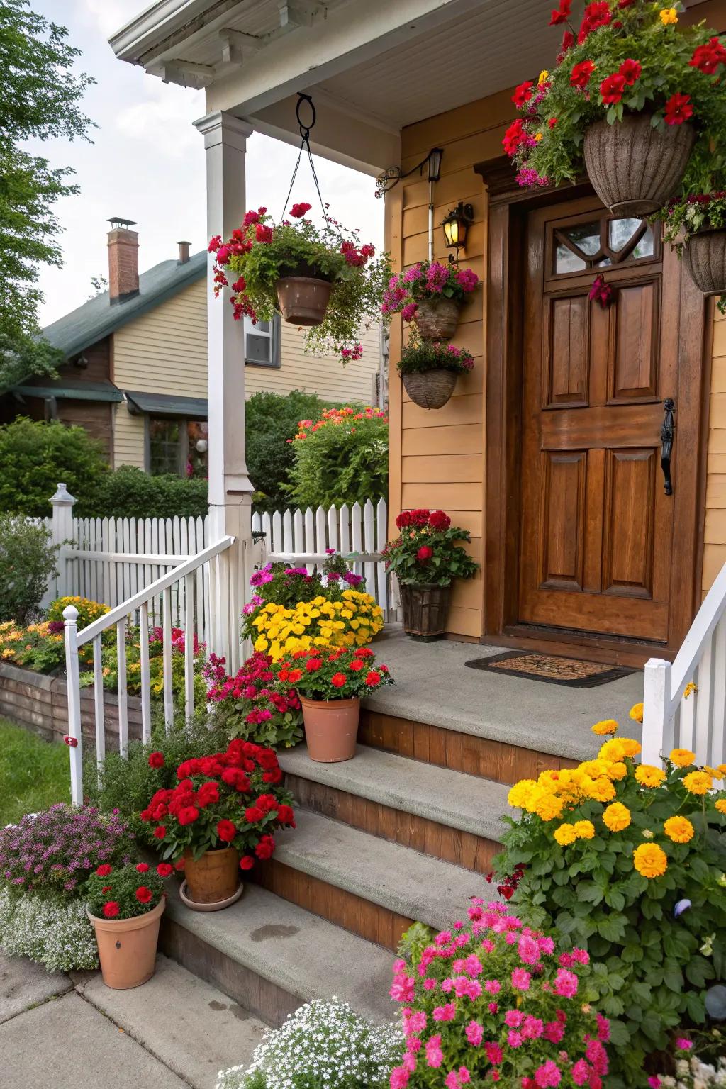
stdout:
<svg viewBox="0 0 726 1089">
<path fill-rule="evenodd" d="M 81 50 L 66 38 L 28 0 L 0 0 L 0 391 L 28 374 L 53 374 L 61 359 L 40 338 L 36 283 L 40 265 L 62 264 L 53 205 L 78 186 L 70 167 L 21 145 L 88 138 L 81 99 L 94 81 L 73 71 Z"/>
</svg>

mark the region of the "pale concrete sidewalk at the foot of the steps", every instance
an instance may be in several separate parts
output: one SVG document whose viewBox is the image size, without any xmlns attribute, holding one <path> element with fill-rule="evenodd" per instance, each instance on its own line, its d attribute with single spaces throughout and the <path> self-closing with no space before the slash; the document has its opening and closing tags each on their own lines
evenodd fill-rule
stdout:
<svg viewBox="0 0 726 1089">
<path fill-rule="evenodd" d="M 167 957 L 144 987 L 47 972 L 0 953 L 2 1085 L 27 1089 L 214 1089 L 247 1065 L 264 1026 Z"/>
</svg>

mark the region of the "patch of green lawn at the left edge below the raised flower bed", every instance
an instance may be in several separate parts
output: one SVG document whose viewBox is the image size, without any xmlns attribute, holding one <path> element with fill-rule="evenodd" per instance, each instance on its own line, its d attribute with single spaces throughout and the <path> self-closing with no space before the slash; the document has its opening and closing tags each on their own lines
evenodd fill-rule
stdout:
<svg viewBox="0 0 726 1089">
<path fill-rule="evenodd" d="M 69 751 L 0 719 L 0 828 L 70 802 Z"/>
</svg>

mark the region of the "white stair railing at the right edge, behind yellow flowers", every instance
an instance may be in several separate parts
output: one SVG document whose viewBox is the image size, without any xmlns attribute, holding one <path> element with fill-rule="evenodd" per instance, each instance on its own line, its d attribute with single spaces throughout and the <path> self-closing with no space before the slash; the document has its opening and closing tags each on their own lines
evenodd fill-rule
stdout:
<svg viewBox="0 0 726 1089">
<path fill-rule="evenodd" d="M 696 689 L 684 696 L 690 682 Z M 726 762 L 726 564 L 673 665 L 645 664 L 642 744 L 648 763 L 672 748 L 691 749 L 699 763 Z"/>
</svg>

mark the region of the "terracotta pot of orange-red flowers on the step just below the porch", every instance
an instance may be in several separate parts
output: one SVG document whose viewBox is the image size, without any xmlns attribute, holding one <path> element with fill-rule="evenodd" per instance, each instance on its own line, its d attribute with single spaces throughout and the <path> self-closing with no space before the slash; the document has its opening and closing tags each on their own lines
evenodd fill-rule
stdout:
<svg viewBox="0 0 726 1089">
<path fill-rule="evenodd" d="M 355 756 L 361 696 L 393 683 L 387 665 L 377 665 L 368 647 L 297 650 L 281 659 L 275 671 L 283 684 L 297 689 L 308 755 L 320 763 Z"/>
</svg>

